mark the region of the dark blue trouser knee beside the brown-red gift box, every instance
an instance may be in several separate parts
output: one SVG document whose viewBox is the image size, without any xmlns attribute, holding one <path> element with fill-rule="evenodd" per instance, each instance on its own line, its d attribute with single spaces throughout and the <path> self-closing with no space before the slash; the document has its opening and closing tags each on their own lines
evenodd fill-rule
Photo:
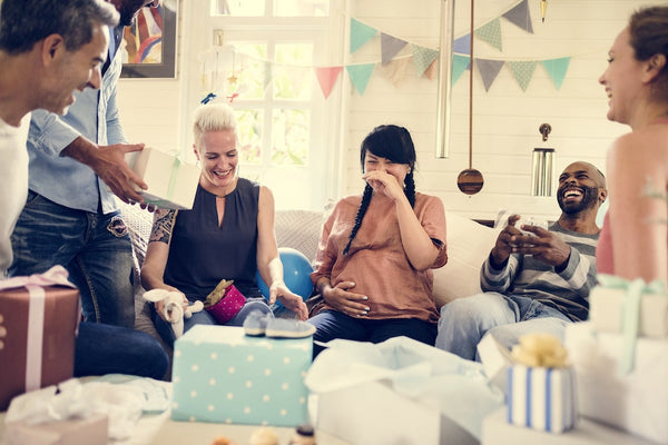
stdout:
<svg viewBox="0 0 668 445">
<path fill-rule="evenodd" d="M 146 333 L 100 323 L 81 323 L 75 347 L 75 377 L 129 374 L 163 379 L 169 357 Z"/>
</svg>

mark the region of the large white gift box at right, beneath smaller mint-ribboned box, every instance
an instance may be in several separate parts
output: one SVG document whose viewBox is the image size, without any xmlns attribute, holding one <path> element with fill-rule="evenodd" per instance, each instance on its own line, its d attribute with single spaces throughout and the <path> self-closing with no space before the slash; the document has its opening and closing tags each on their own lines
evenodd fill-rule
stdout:
<svg viewBox="0 0 668 445">
<path fill-rule="evenodd" d="M 567 326 L 566 347 L 581 415 L 668 444 L 668 338 L 638 338 L 628 373 L 619 366 L 623 337 L 596 333 L 590 322 Z"/>
</svg>

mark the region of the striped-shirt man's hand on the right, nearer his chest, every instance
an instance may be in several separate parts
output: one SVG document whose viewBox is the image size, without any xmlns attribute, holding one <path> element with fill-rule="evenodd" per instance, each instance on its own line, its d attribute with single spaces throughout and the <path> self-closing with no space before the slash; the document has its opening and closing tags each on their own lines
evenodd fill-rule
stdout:
<svg viewBox="0 0 668 445">
<path fill-rule="evenodd" d="M 542 227 L 524 225 L 522 230 L 533 235 L 517 235 L 513 237 L 515 254 L 532 255 L 533 258 L 549 264 L 557 269 L 563 269 L 570 258 L 571 247 L 553 233 Z"/>
</svg>

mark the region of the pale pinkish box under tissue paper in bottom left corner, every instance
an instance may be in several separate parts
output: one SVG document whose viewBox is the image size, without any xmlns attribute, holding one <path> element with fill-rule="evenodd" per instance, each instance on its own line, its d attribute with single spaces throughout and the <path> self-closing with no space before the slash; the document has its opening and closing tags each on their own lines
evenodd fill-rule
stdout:
<svg viewBox="0 0 668 445">
<path fill-rule="evenodd" d="M 91 414 L 85 418 L 32 424 L 8 422 L 4 445 L 107 445 L 108 417 Z"/>
</svg>

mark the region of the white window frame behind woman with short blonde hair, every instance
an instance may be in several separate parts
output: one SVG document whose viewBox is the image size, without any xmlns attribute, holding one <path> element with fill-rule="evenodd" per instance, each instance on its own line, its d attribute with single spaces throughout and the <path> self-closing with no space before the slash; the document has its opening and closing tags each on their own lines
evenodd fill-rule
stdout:
<svg viewBox="0 0 668 445">
<path fill-rule="evenodd" d="M 269 1 L 271 2 L 271 1 Z M 214 44 L 215 31 L 223 31 L 224 42 L 262 40 L 275 42 L 303 41 L 305 36 L 313 36 L 315 48 L 320 44 L 325 50 L 314 51 L 314 66 L 342 66 L 344 48 L 347 48 L 345 37 L 345 18 L 341 13 L 344 0 L 332 0 L 331 17 L 303 18 L 238 18 L 228 16 L 213 16 L 210 0 L 188 0 L 183 10 L 181 22 L 181 76 L 185 85 L 185 97 L 181 110 L 181 147 L 187 147 L 186 155 L 191 156 L 193 110 L 203 98 L 202 73 L 199 55 Z M 338 9 L 336 9 L 338 8 Z M 304 23 L 304 22 L 307 23 Z M 334 42 L 334 43 L 333 43 Z M 218 40 L 218 43 L 219 40 Z M 239 175 L 249 179 L 258 178 L 262 184 L 274 190 L 276 209 L 307 209 L 322 210 L 327 201 L 337 199 L 343 187 L 343 164 L 340 154 L 343 151 L 341 140 L 343 136 L 344 98 L 350 96 L 348 82 L 345 82 L 345 72 L 340 78 L 325 100 L 320 85 L 313 75 L 313 91 L 311 100 L 311 147 L 307 166 L 302 167 L 271 167 L 265 161 L 263 166 L 240 165 Z M 285 108 L 299 108 L 303 101 L 269 99 L 265 108 L 265 129 L 271 126 L 271 109 L 285 105 Z M 236 98 L 233 107 L 261 108 L 257 100 L 244 101 L 243 97 Z M 263 135 L 267 135 L 266 130 Z M 263 151 L 269 148 L 271 141 L 263 140 Z M 302 199 L 292 200 L 285 192 L 277 190 L 284 186 L 294 187 Z M 307 195 L 307 197 L 305 197 Z"/>
</svg>

